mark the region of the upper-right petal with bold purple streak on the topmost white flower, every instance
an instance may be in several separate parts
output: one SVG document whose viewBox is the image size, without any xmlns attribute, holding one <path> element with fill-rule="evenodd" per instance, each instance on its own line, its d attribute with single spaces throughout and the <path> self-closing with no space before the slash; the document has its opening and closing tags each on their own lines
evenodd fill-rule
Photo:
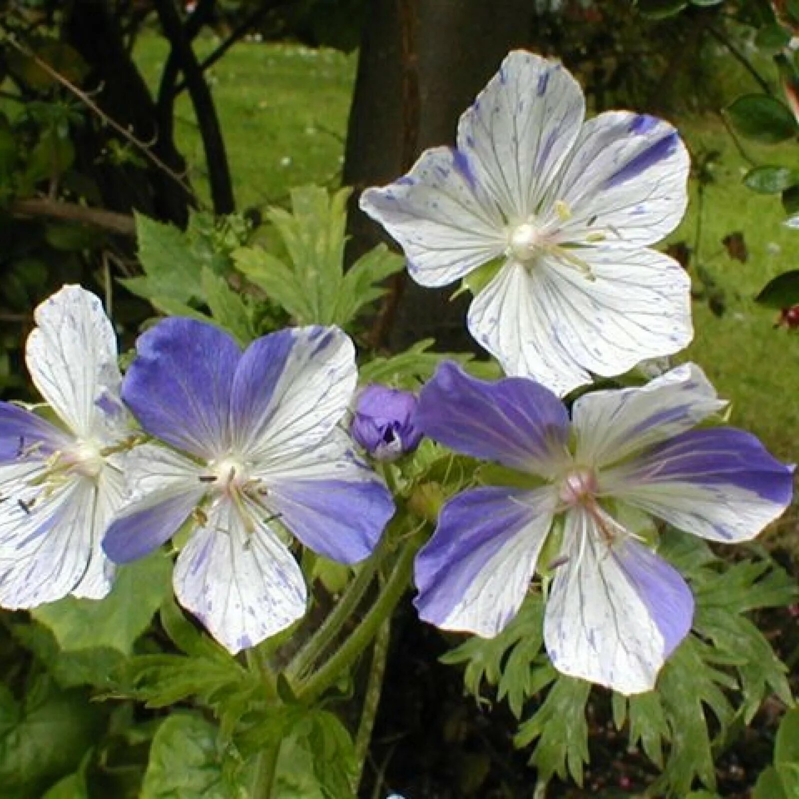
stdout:
<svg viewBox="0 0 799 799">
<path fill-rule="evenodd" d="M 614 244 L 653 244 L 685 213 L 689 169 L 686 146 L 668 122 L 630 111 L 601 113 L 582 126 L 544 220 L 562 241 L 601 234 Z M 570 212 L 565 222 L 555 201 Z"/>
</svg>

